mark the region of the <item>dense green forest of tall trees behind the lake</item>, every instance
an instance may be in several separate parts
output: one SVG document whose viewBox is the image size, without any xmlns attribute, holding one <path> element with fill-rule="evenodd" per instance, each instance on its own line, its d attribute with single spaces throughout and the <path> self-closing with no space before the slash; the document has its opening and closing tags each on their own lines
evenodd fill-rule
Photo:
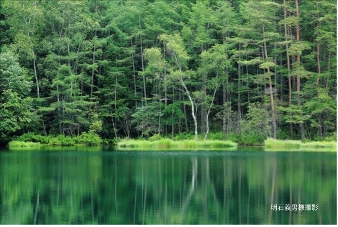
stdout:
<svg viewBox="0 0 338 227">
<path fill-rule="evenodd" d="M 335 0 L 0 3 L 1 143 L 336 138 Z"/>
</svg>

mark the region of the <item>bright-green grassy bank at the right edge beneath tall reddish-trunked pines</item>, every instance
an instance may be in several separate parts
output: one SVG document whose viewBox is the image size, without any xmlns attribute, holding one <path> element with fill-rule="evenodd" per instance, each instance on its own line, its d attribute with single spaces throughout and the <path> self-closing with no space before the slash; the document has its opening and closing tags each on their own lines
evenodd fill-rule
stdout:
<svg viewBox="0 0 338 227">
<path fill-rule="evenodd" d="M 337 152 L 336 141 L 302 142 L 301 140 L 274 140 L 264 141 L 266 151 L 330 151 Z"/>
</svg>

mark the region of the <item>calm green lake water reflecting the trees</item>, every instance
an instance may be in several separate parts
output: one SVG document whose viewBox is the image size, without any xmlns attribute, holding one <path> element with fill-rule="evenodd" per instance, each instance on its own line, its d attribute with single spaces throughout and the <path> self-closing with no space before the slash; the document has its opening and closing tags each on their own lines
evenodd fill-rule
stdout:
<svg viewBox="0 0 338 227">
<path fill-rule="evenodd" d="M 337 224 L 336 153 L 93 149 L 1 151 L 0 224 Z"/>
</svg>

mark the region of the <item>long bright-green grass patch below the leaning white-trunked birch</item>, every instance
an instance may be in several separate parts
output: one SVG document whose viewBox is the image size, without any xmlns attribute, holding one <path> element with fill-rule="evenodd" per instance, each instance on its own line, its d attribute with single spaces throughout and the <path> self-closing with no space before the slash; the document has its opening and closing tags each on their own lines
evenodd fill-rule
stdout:
<svg viewBox="0 0 338 227">
<path fill-rule="evenodd" d="M 237 143 L 228 140 L 121 140 L 117 149 L 204 150 L 233 149 Z"/>
</svg>

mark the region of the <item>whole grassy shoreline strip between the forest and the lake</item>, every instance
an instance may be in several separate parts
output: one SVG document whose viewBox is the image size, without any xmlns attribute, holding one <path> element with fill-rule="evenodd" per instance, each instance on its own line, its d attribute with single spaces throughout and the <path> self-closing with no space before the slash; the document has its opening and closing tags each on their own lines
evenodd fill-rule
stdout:
<svg viewBox="0 0 338 227">
<path fill-rule="evenodd" d="M 40 149 L 52 147 L 91 147 L 91 146 L 112 146 L 114 150 L 224 150 L 234 151 L 240 147 L 262 148 L 264 151 L 309 151 L 309 152 L 337 152 L 336 141 L 309 141 L 302 142 L 301 140 L 273 140 L 267 139 L 261 145 L 243 145 L 230 140 L 140 140 L 140 139 L 123 139 L 115 144 L 86 144 L 75 143 L 68 145 L 44 144 L 40 142 L 18 141 L 13 140 L 6 146 L 9 150 L 18 149 Z"/>
</svg>

